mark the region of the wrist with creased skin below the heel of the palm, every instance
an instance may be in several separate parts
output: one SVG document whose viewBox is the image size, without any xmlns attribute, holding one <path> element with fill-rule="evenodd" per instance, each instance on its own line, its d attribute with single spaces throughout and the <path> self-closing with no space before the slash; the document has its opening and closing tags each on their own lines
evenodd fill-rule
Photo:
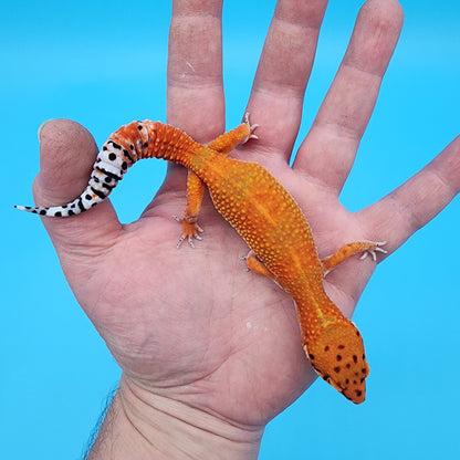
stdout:
<svg viewBox="0 0 460 460">
<path fill-rule="evenodd" d="M 122 377 L 87 460 L 257 459 L 262 432 L 153 395 Z"/>
</svg>

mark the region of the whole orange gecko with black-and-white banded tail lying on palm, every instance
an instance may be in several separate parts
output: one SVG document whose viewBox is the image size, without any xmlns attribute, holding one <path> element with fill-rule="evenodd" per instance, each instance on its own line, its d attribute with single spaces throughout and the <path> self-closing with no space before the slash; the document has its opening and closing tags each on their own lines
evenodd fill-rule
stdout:
<svg viewBox="0 0 460 460">
<path fill-rule="evenodd" d="M 310 363 L 334 388 L 353 402 L 365 399 L 369 373 L 363 338 L 356 326 L 328 299 L 324 275 L 351 255 L 386 252 L 384 243 L 353 242 L 320 260 L 309 223 L 301 209 L 262 166 L 227 155 L 250 138 L 257 125 L 244 122 L 210 144 L 196 143 L 178 128 L 159 122 L 133 122 L 112 134 L 94 164 L 86 189 L 74 201 L 55 207 L 18 209 L 50 217 L 77 215 L 97 205 L 116 187 L 126 170 L 142 158 L 163 158 L 185 166 L 187 208 L 178 242 L 201 239 L 197 217 L 205 187 L 216 209 L 251 249 L 248 266 L 270 276 L 295 302 L 302 343 Z"/>
</svg>

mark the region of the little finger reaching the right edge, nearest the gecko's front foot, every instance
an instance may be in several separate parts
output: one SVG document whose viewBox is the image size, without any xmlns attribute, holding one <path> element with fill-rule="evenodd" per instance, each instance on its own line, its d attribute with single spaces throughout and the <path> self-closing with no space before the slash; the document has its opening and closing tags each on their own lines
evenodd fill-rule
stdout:
<svg viewBox="0 0 460 460">
<path fill-rule="evenodd" d="M 460 136 L 424 169 L 357 216 L 394 251 L 460 191 Z M 385 247 L 387 249 L 387 247 Z"/>
</svg>

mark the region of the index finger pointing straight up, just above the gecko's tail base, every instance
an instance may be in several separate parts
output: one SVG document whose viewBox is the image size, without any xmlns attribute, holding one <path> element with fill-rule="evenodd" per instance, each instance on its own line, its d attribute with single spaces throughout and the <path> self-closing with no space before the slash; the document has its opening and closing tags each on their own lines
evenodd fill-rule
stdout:
<svg viewBox="0 0 460 460">
<path fill-rule="evenodd" d="M 167 119 L 196 140 L 224 130 L 222 0 L 175 0 L 169 29 Z"/>
</svg>

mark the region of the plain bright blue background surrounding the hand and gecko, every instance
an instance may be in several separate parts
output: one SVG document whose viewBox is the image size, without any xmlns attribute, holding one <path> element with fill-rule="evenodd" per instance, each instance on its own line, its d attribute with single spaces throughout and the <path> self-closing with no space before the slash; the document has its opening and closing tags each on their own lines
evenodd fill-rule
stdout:
<svg viewBox="0 0 460 460">
<path fill-rule="evenodd" d="M 12 205 L 32 203 L 36 129 L 44 119 L 76 119 L 100 145 L 132 119 L 165 119 L 170 2 L 130 4 L 2 6 L 1 458 L 80 458 L 119 376 L 76 304 L 40 219 Z M 360 4 L 330 3 L 301 137 Z M 394 189 L 459 132 L 460 3 L 402 6 L 402 35 L 342 197 L 351 209 Z M 224 6 L 229 126 L 240 121 L 273 7 L 273 0 Z M 164 172 L 163 161 L 133 168 L 113 195 L 123 221 L 136 219 Z M 378 268 L 360 300 L 355 321 L 372 367 L 366 402 L 356 407 L 316 383 L 268 426 L 262 460 L 459 458 L 459 216 L 457 198 Z"/>
</svg>

